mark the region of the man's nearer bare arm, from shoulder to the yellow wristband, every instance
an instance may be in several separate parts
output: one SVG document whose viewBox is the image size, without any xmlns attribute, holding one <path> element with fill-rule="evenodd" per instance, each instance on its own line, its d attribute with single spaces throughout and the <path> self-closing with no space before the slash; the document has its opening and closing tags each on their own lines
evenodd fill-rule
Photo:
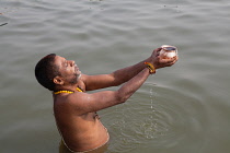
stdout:
<svg viewBox="0 0 230 153">
<path fill-rule="evenodd" d="M 118 91 L 103 91 L 97 93 L 73 93 L 68 101 L 76 108 L 78 115 L 97 111 L 126 102 L 149 76 L 149 69 L 146 67 L 136 76 L 126 82 Z"/>
</svg>

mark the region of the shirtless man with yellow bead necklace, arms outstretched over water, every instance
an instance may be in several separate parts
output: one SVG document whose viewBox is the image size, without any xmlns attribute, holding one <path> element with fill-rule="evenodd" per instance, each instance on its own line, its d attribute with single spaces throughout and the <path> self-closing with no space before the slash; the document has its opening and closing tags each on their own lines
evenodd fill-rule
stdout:
<svg viewBox="0 0 230 153">
<path fill-rule="evenodd" d="M 54 54 L 41 59 L 35 75 L 44 87 L 53 91 L 54 114 L 66 149 L 85 152 L 107 143 L 107 130 L 96 111 L 126 102 L 156 69 L 176 62 L 177 57 L 162 59 L 160 50 L 154 49 L 139 63 L 100 75 L 82 74 L 74 61 Z M 123 83 L 117 91 L 85 93 Z"/>
</svg>

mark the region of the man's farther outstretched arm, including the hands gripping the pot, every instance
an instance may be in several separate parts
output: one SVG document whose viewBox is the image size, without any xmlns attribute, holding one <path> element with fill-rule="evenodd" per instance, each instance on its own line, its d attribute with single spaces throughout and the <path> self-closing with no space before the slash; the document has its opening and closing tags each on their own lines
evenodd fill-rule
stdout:
<svg viewBox="0 0 230 153">
<path fill-rule="evenodd" d="M 159 69 L 163 67 L 170 67 L 177 60 L 177 58 L 161 59 L 161 57 L 159 57 L 160 50 L 161 48 L 157 48 L 153 50 L 151 57 L 149 57 L 148 59 L 140 61 L 134 66 L 116 70 L 111 74 L 101 74 L 101 75 L 82 74 L 82 81 L 85 84 L 85 90 L 92 91 L 92 90 L 120 85 L 130 80 L 131 78 L 134 78 L 135 75 L 137 75 L 140 71 L 142 71 L 146 68 L 146 64 L 143 64 L 143 62 L 151 62 L 156 69 Z"/>
</svg>

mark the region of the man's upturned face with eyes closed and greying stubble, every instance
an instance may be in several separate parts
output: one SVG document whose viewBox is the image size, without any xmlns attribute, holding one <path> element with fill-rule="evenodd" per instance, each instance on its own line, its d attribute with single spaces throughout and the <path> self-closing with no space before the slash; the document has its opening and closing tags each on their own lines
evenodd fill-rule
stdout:
<svg viewBox="0 0 230 153">
<path fill-rule="evenodd" d="M 60 56 L 55 57 L 55 64 L 59 67 L 61 78 L 65 79 L 66 83 L 76 84 L 81 75 L 78 66 L 73 60 L 66 60 Z"/>
</svg>

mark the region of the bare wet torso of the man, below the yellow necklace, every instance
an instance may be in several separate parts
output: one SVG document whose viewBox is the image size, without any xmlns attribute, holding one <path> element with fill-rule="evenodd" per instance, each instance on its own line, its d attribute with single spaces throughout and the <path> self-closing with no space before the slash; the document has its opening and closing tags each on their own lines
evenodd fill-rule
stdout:
<svg viewBox="0 0 230 153">
<path fill-rule="evenodd" d="M 66 95 L 69 96 L 69 95 Z M 88 151 L 108 141 L 108 133 L 96 113 L 78 115 L 65 96 L 54 98 L 54 114 L 59 132 L 71 151 Z"/>
</svg>

